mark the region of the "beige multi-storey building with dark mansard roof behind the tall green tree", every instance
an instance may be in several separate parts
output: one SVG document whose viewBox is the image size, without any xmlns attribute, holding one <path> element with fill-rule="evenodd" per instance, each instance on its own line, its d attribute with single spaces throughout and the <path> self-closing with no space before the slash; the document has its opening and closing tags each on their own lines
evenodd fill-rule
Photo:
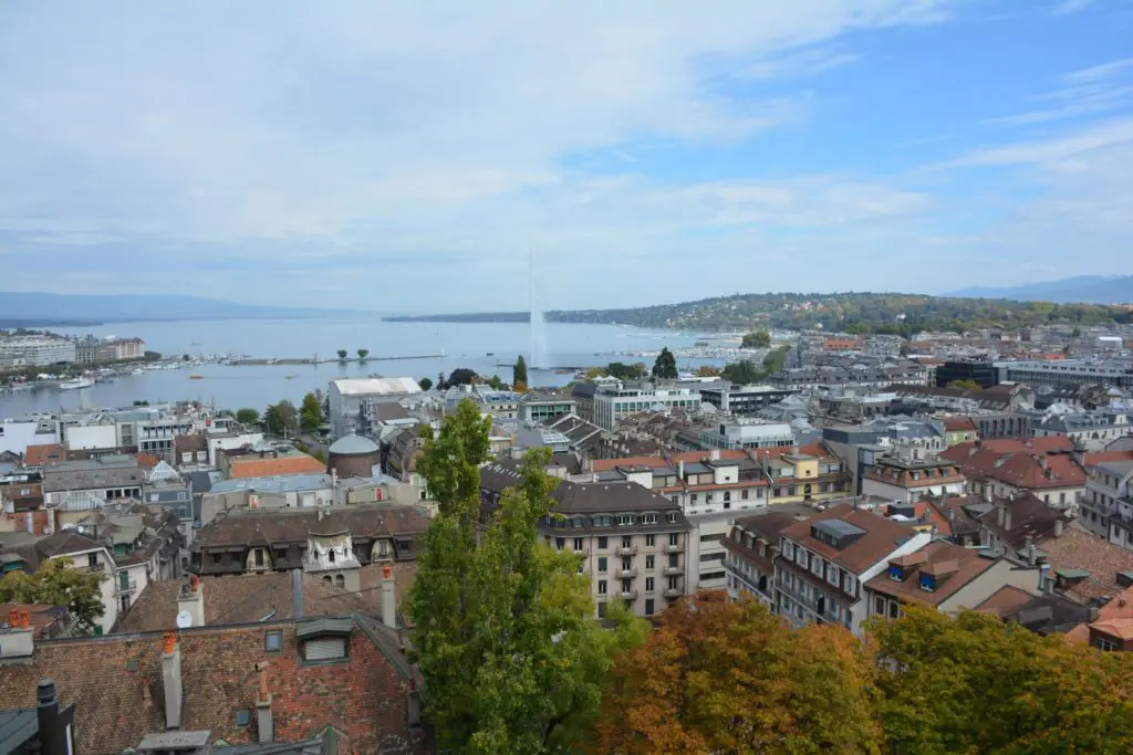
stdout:
<svg viewBox="0 0 1133 755">
<path fill-rule="evenodd" d="M 521 480 L 516 464 L 480 467 L 485 509 Z M 679 504 L 629 481 L 563 480 L 552 495 L 555 513 L 539 522 L 539 537 L 580 557 L 579 573 L 589 575 L 599 618 L 614 601 L 637 616 L 653 616 L 692 592 L 697 549 Z"/>
</svg>

